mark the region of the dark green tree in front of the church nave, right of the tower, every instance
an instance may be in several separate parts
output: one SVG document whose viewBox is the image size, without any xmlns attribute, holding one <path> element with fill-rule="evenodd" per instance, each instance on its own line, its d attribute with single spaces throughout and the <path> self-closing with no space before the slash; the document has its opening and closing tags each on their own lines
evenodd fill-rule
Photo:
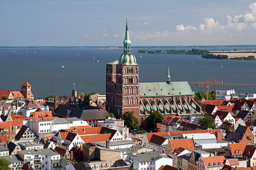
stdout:
<svg viewBox="0 0 256 170">
<path fill-rule="evenodd" d="M 154 111 L 149 115 L 148 119 L 149 120 L 147 121 L 147 131 L 155 132 L 156 123 L 161 123 L 164 120 L 164 117 L 158 111 Z"/>
</svg>

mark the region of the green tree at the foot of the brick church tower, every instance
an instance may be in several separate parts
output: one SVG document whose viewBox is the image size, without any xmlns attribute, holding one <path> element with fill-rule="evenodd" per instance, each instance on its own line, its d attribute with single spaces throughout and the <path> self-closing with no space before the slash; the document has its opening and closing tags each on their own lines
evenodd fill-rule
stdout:
<svg viewBox="0 0 256 170">
<path fill-rule="evenodd" d="M 134 116 L 133 111 L 126 111 L 122 117 L 125 120 L 125 126 L 131 129 L 131 131 L 136 131 L 140 129 L 138 119 Z"/>
</svg>

